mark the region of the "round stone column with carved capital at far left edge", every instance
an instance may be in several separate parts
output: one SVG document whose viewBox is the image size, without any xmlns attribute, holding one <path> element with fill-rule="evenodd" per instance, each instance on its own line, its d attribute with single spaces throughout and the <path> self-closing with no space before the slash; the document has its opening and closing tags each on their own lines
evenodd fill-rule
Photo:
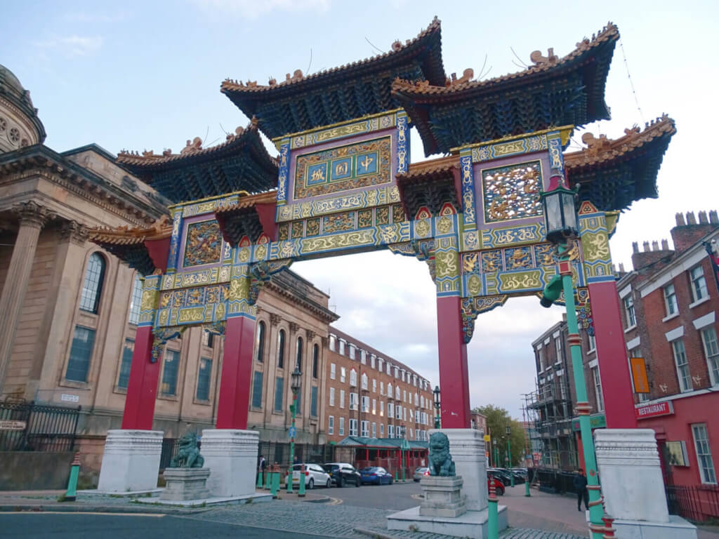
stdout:
<svg viewBox="0 0 719 539">
<path fill-rule="evenodd" d="M 20 203 L 12 211 L 17 215 L 20 227 L 0 296 L 0 394 L 4 390 L 5 372 L 35 259 L 37 239 L 45 223 L 54 217 L 47 208 L 32 201 Z"/>
</svg>

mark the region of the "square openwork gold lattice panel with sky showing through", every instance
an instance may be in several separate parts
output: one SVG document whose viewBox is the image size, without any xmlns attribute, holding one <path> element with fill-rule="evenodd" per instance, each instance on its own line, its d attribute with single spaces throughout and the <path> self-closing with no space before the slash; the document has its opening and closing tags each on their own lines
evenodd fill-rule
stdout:
<svg viewBox="0 0 719 539">
<path fill-rule="evenodd" d="M 485 223 L 541 216 L 541 162 L 482 170 Z"/>
</svg>

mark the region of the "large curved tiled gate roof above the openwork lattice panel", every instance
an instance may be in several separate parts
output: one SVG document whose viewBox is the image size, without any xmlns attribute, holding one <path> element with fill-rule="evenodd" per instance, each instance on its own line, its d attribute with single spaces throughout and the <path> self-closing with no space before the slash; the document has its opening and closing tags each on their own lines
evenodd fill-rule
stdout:
<svg viewBox="0 0 719 539">
<path fill-rule="evenodd" d="M 609 118 L 604 88 L 619 32 L 608 24 L 559 58 L 531 54 L 535 65 L 487 80 L 443 85 L 395 80 L 392 93 L 422 138 L 425 155 L 559 125 Z"/>
</svg>

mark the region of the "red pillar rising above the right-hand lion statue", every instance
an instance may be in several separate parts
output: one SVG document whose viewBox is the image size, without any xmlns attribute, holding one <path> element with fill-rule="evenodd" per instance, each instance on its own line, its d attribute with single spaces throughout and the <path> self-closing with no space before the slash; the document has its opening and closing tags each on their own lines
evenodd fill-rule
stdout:
<svg viewBox="0 0 719 539">
<path fill-rule="evenodd" d="M 470 376 L 460 298 L 437 298 L 437 344 L 442 428 L 470 428 Z"/>
</svg>

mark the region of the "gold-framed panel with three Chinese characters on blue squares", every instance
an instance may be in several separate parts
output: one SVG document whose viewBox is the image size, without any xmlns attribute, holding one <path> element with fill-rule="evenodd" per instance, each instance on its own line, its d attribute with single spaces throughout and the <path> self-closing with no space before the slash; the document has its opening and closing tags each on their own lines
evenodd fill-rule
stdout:
<svg viewBox="0 0 719 539">
<path fill-rule="evenodd" d="M 390 183 L 391 149 L 390 137 L 382 137 L 299 155 L 295 200 Z"/>
</svg>

